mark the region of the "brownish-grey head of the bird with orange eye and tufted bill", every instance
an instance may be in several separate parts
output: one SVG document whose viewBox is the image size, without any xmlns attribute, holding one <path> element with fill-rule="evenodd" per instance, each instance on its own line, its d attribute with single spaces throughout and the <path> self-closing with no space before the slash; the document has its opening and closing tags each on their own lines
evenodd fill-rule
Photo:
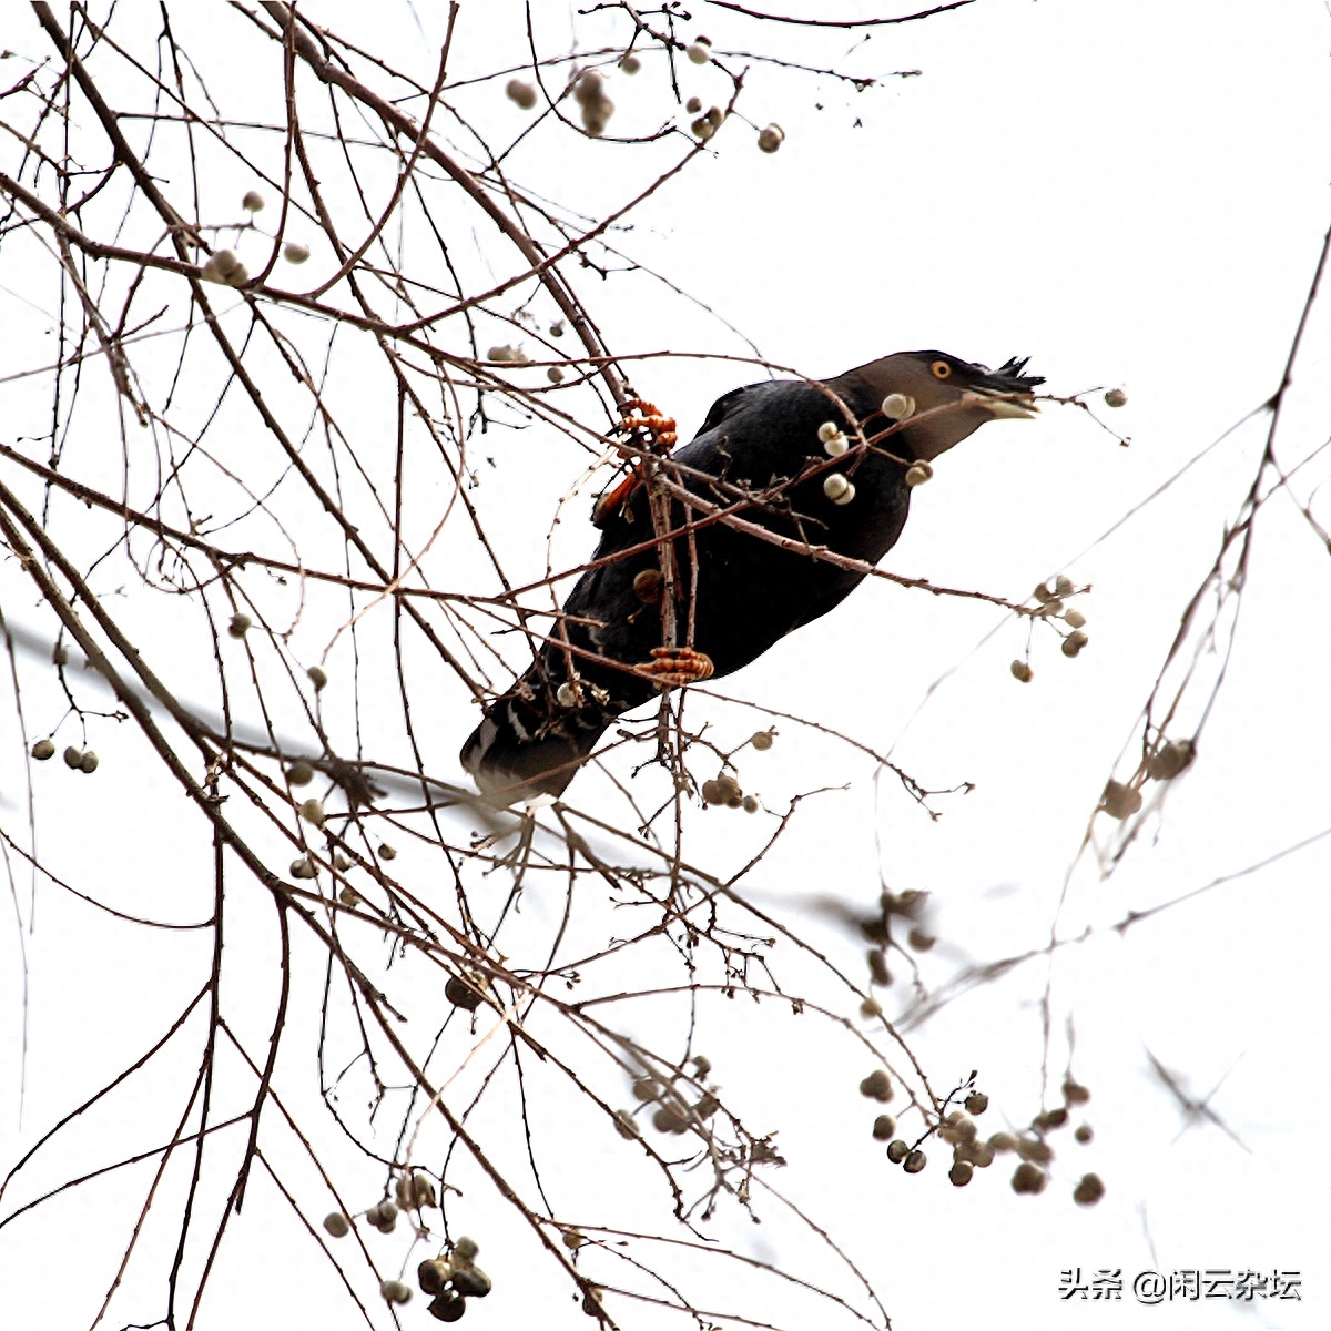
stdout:
<svg viewBox="0 0 1331 1331">
<path fill-rule="evenodd" d="M 945 351 L 897 351 L 840 375 L 829 386 L 839 391 L 844 387 L 848 401 L 872 398 L 889 419 L 924 417 L 892 437 L 897 445 L 893 451 L 932 462 L 986 421 L 1025 418 L 1040 410 L 1032 394 L 1045 381 L 1038 374 L 1022 374 L 1025 367 L 1024 359 L 990 370 Z"/>
</svg>

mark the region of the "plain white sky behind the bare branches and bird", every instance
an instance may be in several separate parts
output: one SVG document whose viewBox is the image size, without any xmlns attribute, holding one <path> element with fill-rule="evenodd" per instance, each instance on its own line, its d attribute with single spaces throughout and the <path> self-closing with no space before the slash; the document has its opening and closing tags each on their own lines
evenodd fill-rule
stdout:
<svg viewBox="0 0 1331 1331">
<path fill-rule="evenodd" d="M 413 12 L 383 3 L 366 12 L 329 4 L 311 12 L 429 83 L 442 39 L 433 8 Z M 828 12 L 852 17 L 873 7 L 844 0 Z M 542 5 L 538 15 L 543 51 L 595 48 L 606 31 L 587 20 L 575 25 L 562 5 Z M 498 68 L 510 48 L 519 63 L 520 16 L 515 4 L 463 3 L 457 75 L 471 64 Z M 1093 930 L 1049 968 L 1030 962 L 974 989 L 910 1040 L 940 1089 L 970 1067 L 980 1070 L 993 1102 L 985 1129 L 1008 1126 L 1005 1113 L 1020 1126 L 1040 1107 L 1038 1005 L 1047 980 L 1050 1103 L 1065 1066 L 1065 1024 L 1073 1021 L 1073 1066 L 1093 1091 L 1086 1117 L 1095 1143 L 1058 1141 L 1053 1182 L 1038 1198 L 1012 1194 L 1006 1159 L 954 1190 L 938 1143 L 926 1147 L 930 1166 L 918 1178 L 886 1163 L 868 1135 L 873 1107 L 856 1093 L 869 1066 L 853 1057 L 851 1041 L 833 1041 L 827 1025 L 745 1000 L 713 1004 L 704 1006 L 697 1047 L 712 1057 L 717 1081 L 743 1105 L 745 1121 L 779 1129 L 791 1167 L 773 1175 L 773 1185 L 807 1203 L 870 1275 L 898 1331 L 981 1320 L 1037 1328 L 1323 1326 L 1331 1308 L 1322 1125 L 1331 1094 L 1324 1038 L 1331 837 L 1125 934 L 1113 929 L 1129 912 L 1182 897 L 1331 825 L 1323 757 L 1331 744 L 1327 551 L 1287 498 L 1274 496 L 1258 515 L 1236 646 L 1197 767 L 1170 788 L 1159 815 L 1143 820 L 1107 881 L 1101 881 L 1094 853 L 1078 857 L 1078 851 L 1106 777 L 1122 753 L 1139 745 L 1134 725 L 1142 704 L 1181 611 L 1210 567 L 1225 524 L 1239 511 L 1264 442 L 1264 419 L 1214 447 L 1163 496 L 1101 536 L 1279 385 L 1331 217 L 1326 8 L 1311 0 L 980 0 L 925 23 L 877 29 L 853 56 L 845 52 L 860 35 L 779 31 L 707 5 L 696 16 L 696 28 L 717 51 L 784 51 L 811 64 L 835 61 L 869 73 L 920 69 L 922 76 L 855 95 L 831 80 L 803 81 L 755 67 L 740 108 L 756 124 L 775 120 L 785 128 L 781 152 L 759 154 L 752 133 L 732 121 L 716 140 L 715 157 L 668 184 L 635 214 L 634 230 L 612 244 L 705 301 L 776 363 L 835 374 L 912 347 L 940 347 L 992 365 L 1029 354 L 1032 370 L 1045 374 L 1059 395 L 1126 383 L 1129 406 L 1097 414 L 1131 437 L 1122 449 L 1083 413 L 1057 406 L 1037 422 L 986 426 L 940 462 L 885 562 L 894 572 L 1016 600 L 1058 571 L 1093 584 L 1083 598 L 1091 643 L 1075 662 L 1059 655 L 1051 632 L 1036 634 L 1036 680 L 1021 687 L 1008 663 L 1025 648 L 1022 624 L 989 606 L 874 583 L 719 683 L 716 692 L 752 701 L 756 711 L 703 699 L 688 704 L 693 721 L 715 719 L 723 744 L 767 724 L 764 709 L 799 712 L 877 748 L 894 745 L 894 760 L 929 785 L 976 783 L 966 797 L 940 800 L 944 816 L 930 823 L 894 779 L 874 781 L 866 757 L 777 723 L 776 747 L 741 763 L 747 788 L 775 809 L 801 791 L 844 783 L 849 789 L 808 801 L 779 852 L 747 880 L 745 894 L 860 978 L 860 941 L 808 910 L 809 900 L 832 894 L 851 906 L 870 906 L 880 872 L 898 889 L 930 890 L 941 941 L 921 958 L 921 973 L 932 990 L 945 989 L 972 961 L 1045 946 L 1054 928 L 1061 938 Z M 9 19 L 4 44 L 47 55 L 40 32 L 20 21 L 17 8 Z M 740 57 L 731 63 L 744 64 Z M 233 75 L 254 77 L 244 64 Z M 214 83 L 220 77 L 212 75 Z M 683 79 L 684 92 L 696 89 L 704 104 L 721 91 L 712 71 L 688 67 Z M 619 106 L 615 130 L 648 128 L 668 113 L 666 87 L 651 68 L 636 80 L 614 77 L 611 95 Z M 502 80 L 459 95 L 457 102 L 495 144 L 527 124 L 503 98 Z M 856 117 L 862 128 L 852 128 Z M 550 142 L 567 142 L 568 156 L 551 154 Z M 534 138 L 530 152 L 519 149 L 506 169 L 531 192 L 599 216 L 647 178 L 640 176 L 647 168 L 636 164 L 628 148 L 547 136 Z M 238 200 L 253 182 L 238 174 L 209 184 L 217 196 L 204 213 L 225 216 L 228 209 L 238 213 L 232 197 Z M 482 256 L 495 244 L 478 233 Z M 327 262 L 315 245 L 311 281 L 318 265 L 330 272 Z M 502 264 L 508 262 L 504 253 Z M 752 354 L 717 318 L 646 278 L 602 284 L 591 273 L 570 272 L 618 350 Z M 47 315 L 53 303 L 25 281 L 8 270 L 0 252 L 0 286 L 13 293 L 0 305 L 0 326 L 12 334 L 5 337 L 5 365 L 28 369 L 43 363 L 41 345 L 31 339 L 49 321 L 43 323 L 25 302 L 41 306 L 45 299 Z M 1287 469 L 1326 438 L 1326 309 L 1314 309 L 1278 439 Z M 496 329 L 492 341 L 510 339 L 511 331 Z M 531 371 L 534 382 L 539 374 Z M 636 389 L 677 417 L 685 438 L 719 393 L 756 377 L 745 366 L 685 358 L 650 361 L 632 371 Z M 375 369 L 371 383 L 383 382 Z M 4 385 L 5 413 L 16 413 L 13 403 L 24 399 L 40 422 L 49 410 L 40 379 Z M 1089 401 L 1094 406 L 1099 398 Z M 370 394 L 367 430 L 391 421 L 389 406 L 382 417 L 375 410 Z M 17 415 L 9 421 L 5 443 L 40 429 Z M 548 530 L 559 498 L 583 479 L 586 458 L 562 439 L 544 447 L 531 431 L 500 429 L 473 447 L 494 459 L 492 469 L 476 459 L 475 494 L 478 504 L 507 515 L 491 523 L 506 567 L 515 576 L 539 576 L 546 556 L 534 534 Z M 1314 459 L 1300 474 L 1300 502 L 1326 474 L 1324 458 Z M 595 487 L 587 488 L 567 510 L 556 563 L 575 563 L 590 550 L 584 514 L 592 492 Z M 422 496 L 422 536 L 431 526 L 430 498 Z M 1312 510 L 1328 526 L 1324 498 L 1314 498 Z M 449 560 L 470 558 L 450 542 L 451 535 L 431 552 L 437 586 L 450 583 Z M 31 590 L 19 590 L 12 567 L 0 570 L 0 579 L 7 619 L 24 624 Z M 130 619 L 136 614 L 146 616 L 145 632 L 154 623 L 161 627 L 160 602 L 145 598 L 141 610 L 126 610 Z M 299 646 L 302 662 L 317 659 L 335 624 L 325 619 L 310 627 Z M 382 642 L 375 646 L 375 631 L 371 620 L 362 634 L 362 643 L 369 635 L 366 669 L 375 654 L 387 651 Z M 378 632 L 390 631 L 385 615 Z M 512 664 L 523 664 L 520 646 L 508 650 Z M 329 707 L 337 705 L 350 675 L 345 652 L 345 644 L 335 648 L 329 662 Z M 180 685 L 189 696 L 188 658 L 182 662 Z M 1202 671 L 1214 671 L 1214 658 Z M 28 725 L 44 733 L 40 727 L 60 716 L 59 695 L 52 689 L 44 711 L 37 685 L 27 688 Z M 454 755 L 475 709 L 461 688 L 451 681 L 449 688 L 451 693 L 433 700 L 437 715 L 426 717 L 426 757 L 433 771 L 455 777 Z M 1185 719 L 1195 723 L 1195 701 Z M 11 721 L 7 709 L 0 792 L 9 805 L 7 825 L 21 827 L 23 751 Z M 176 866 L 193 864 L 200 847 L 172 825 L 180 796 L 156 771 L 126 771 L 130 756 L 117 759 L 117 744 L 130 747 L 114 735 L 98 737 L 106 780 L 100 772 L 73 784 L 56 769 L 59 760 L 35 772 L 39 809 L 45 804 L 43 817 L 51 820 L 39 819 L 39 835 L 76 881 L 87 885 L 80 874 L 98 864 L 102 876 L 124 880 L 136 909 L 149 910 L 144 898 L 153 896 L 161 897 L 153 908 L 165 909 Z M 1119 775 L 1134 765 L 1135 757 L 1126 757 Z M 574 795 L 588 809 L 602 800 L 603 808 L 614 807 L 608 783 L 596 773 L 580 777 Z M 765 821 L 695 811 L 689 856 L 716 872 L 733 869 L 761 844 Z M 71 827 L 77 835 L 69 835 Z M 1103 819 L 1094 828 L 1102 843 L 1113 831 Z M 149 829 L 162 839 L 150 853 Z M 415 873 L 422 890 L 439 876 L 425 855 L 403 858 L 403 874 Z M 479 884 L 473 889 L 474 896 L 482 890 Z M 504 892 L 498 876 L 492 890 L 496 897 Z M 27 893 L 19 890 L 20 898 Z M 548 924 L 562 905 L 562 897 L 540 901 L 528 892 L 524 910 L 532 924 Z M 260 905 L 257 933 L 269 928 L 262 912 Z M 198 913 L 186 912 L 189 918 Z M 594 933 L 616 922 L 588 906 L 587 926 Z M 8 1162 L 150 1038 L 162 1016 L 161 994 L 186 993 L 201 982 L 206 956 L 189 956 L 174 941 L 170 950 L 158 938 L 145 944 L 138 932 L 121 934 L 102 918 L 71 909 L 49 888 L 39 892 L 36 932 L 23 940 L 25 961 L 15 926 L 3 938 L 0 1162 Z M 144 950 L 118 950 L 129 944 Z M 789 974 L 808 978 L 799 960 L 780 949 L 777 957 Z M 254 960 L 246 978 L 266 998 L 276 978 L 262 961 Z M 305 980 L 317 985 L 314 965 L 306 966 Z M 679 982 L 679 976 L 663 982 Z M 880 992 L 889 1014 L 906 1000 L 904 988 Z M 853 1017 L 844 992 L 840 1001 L 839 1010 Z M 294 1014 L 287 1051 L 305 1030 L 313 1041 L 313 1029 L 309 1010 Z M 260 1025 L 256 1036 L 261 1032 Z M 1198 1097 L 1225 1078 L 1211 1109 L 1248 1150 L 1205 1122 L 1178 1135 L 1181 1109 L 1151 1074 L 1147 1047 Z M 313 1077 L 310 1067 L 305 1107 L 317 1115 Z M 162 1094 L 169 1085 L 168 1078 Z M 121 1149 L 156 1141 L 140 1133 L 150 1118 L 150 1097 L 125 1105 L 102 1121 L 104 1127 L 122 1126 Z M 560 1185 L 572 1190 L 570 1197 L 595 1198 L 603 1174 L 630 1193 L 635 1185 L 650 1187 L 639 1183 L 623 1153 L 584 1159 L 566 1107 L 555 1105 L 551 1113 L 567 1129 L 560 1142 L 568 1178 Z M 389 1150 L 391 1115 L 385 1131 L 381 1145 Z M 85 1141 L 60 1167 L 75 1173 L 98 1155 L 105 1155 L 105 1142 Z M 349 1190 L 373 1199 L 378 1174 L 357 1167 L 365 1182 L 359 1190 L 349 1183 Z M 1109 1189 L 1093 1210 L 1070 1201 L 1083 1169 L 1101 1173 Z M 299 1201 L 317 1218 L 327 1209 L 326 1195 L 311 1178 L 303 1182 Z M 122 1248 L 122 1233 L 100 1211 L 110 1205 L 106 1191 L 79 1195 L 87 1199 L 0 1230 L 0 1290 L 16 1326 L 85 1326 L 109 1283 L 113 1267 L 106 1262 Z M 590 1326 L 566 1302 L 566 1288 L 528 1270 L 538 1260 L 530 1243 L 520 1248 L 523 1240 L 514 1238 L 508 1250 L 498 1240 L 508 1225 L 500 1203 L 479 1185 L 471 1199 L 463 1229 L 480 1239 L 496 1288 L 486 1304 L 469 1310 L 466 1324 L 508 1327 L 539 1316 L 552 1327 Z M 660 1202 L 659 1193 L 652 1201 Z M 327 1267 L 287 1256 L 302 1240 L 280 1209 L 273 1205 L 270 1214 L 266 1205 L 254 1201 L 246 1209 L 226 1259 L 232 1284 L 214 1288 L 198 1326 L 230 1326 L 241 1316 L 277 1326 L 297 1315 L 355 1324 Z M 575 1219 L 596 1218 L 594 1210 L 568 1206 Z M 712 1233 L 787 1268 L 821 1264 L 820 1254 L 789 1239 L 776 1215 L 764 1218 L 764 1229 L 753 1230 L 723 1207 Z M 149 1229 L 142 1242 L 166 1246 L 172 1233 L 164 1221 L 161 1233 Z M 781 1240 L 789 1246 L 783 1248 Z M 68 1274 L 76 1254 L 93 1268 L 87 1283 Z M 294 1284 L 282 1283 L 281 1262 L 287 1259 L 306 1272 Z M 1063 1307 L 1059 1271 L 1073 1266 L 1123 1267 L 1129 1275 L 1145 1267 L 1296 1270 L 1304 1302 L 1213 1302 L 1166 1311 L 1127 1299 L 1099 1311 Z M 149 1308 L 156 1314 L 160 1286 L 146 1283 L 140 1292 L 141 1302 L 116 1304 L 110 1324 L 146 1320 Z M 733 1286 L 717 1302 L 744 1306 Z M 635 1324 L 631 1310 L 612 1311 Z M 421 1302 L 405 1310 L 403 1322 L 430 1324 Z"/>
</svg>

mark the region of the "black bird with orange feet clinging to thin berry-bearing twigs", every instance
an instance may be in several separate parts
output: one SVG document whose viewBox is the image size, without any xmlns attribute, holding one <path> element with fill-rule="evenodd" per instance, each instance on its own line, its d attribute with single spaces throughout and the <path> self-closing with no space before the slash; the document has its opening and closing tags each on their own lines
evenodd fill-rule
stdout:
<svg viewBox="0 0 1331 1331">
<path fill-rule="evenodd" d="M 1045 381 L 901 351 L 825 382 L 735 389 L 697 437 L 596 503 L 594 567 L 462 765 L 495 803 L 559 795 L 606 727 L 662 687 L 728 675 L 837 606 L 896 544 L 929 463 Z M 626 421 L 673 443 L 644 402 Z"/>
</svg>

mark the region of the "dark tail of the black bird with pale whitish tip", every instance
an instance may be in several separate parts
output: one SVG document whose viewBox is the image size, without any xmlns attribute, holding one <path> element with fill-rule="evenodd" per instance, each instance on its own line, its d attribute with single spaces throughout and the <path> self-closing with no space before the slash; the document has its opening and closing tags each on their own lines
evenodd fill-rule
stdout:
<svg viewBox="0 0 1331 1331">
<path fill-rule="evenodd" d="M 543 692 L 516 685 L 462 745 L 462 765 L 495 804 L 562 795 L 612 719 L 595 704 L 548 703 Z"/>
</svg>

